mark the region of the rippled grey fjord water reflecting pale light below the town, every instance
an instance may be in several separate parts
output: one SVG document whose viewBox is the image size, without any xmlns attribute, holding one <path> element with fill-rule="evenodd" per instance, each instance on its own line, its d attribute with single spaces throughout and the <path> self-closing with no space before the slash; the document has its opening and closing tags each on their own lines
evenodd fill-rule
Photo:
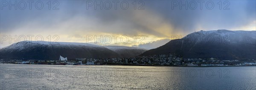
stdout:
<svg viewBox="0 0 256 90">
<path fill-rule="evenodd" d="M 0 64 L 0 90 L 256 90 L 256 67 Z"/>
</svg>

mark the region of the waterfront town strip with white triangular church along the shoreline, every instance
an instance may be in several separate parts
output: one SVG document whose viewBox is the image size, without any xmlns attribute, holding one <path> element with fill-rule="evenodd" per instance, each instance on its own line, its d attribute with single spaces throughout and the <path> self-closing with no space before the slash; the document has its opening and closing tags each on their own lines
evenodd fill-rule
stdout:
<svg viewBox="0 0 256 90">
<path fill-rule="evenodd" d="M 218 60 L 217 58 L 180 58 L 175 55 L 137 56 L 134 58 L 76 58 L 59 60 L 0 59 L 3 64 L 50 64 L 50 65 L 137 65 L 137 66 L 256 66 L 256 60 Z"/>
</svg>

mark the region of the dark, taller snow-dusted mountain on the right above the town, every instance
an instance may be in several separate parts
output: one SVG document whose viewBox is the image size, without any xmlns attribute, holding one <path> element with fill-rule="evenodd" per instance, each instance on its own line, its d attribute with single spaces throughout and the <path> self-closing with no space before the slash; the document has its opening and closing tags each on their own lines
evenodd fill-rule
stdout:
<svg viewBox="0 0 256 90">
<path fill-rule="evenodd" d="M 141 55 L 169 53 L 183 58 L 256 59 L 256 31 L 193 32 Z"/>
</svg>

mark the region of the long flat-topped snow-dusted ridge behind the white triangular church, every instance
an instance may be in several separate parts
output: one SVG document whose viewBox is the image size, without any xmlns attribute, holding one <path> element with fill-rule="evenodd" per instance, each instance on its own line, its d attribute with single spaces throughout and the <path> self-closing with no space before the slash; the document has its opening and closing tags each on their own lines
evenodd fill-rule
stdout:
<svg viewBox="0 0 256 90">
<path fill-rule="evenodd" d="M 112 47 L 112 48 L 111 48 Z M 132 50 L 129 50 L 132 49 Z M 126 50 L 122 52 L 122 50 Z M 98 46 L 86 43 L 21 41 L 0 49 L 2 58 L 58 60 L 75 58 L 124 58 L 142 54 L 145 49 L 128 46 Z"/>
</svg>

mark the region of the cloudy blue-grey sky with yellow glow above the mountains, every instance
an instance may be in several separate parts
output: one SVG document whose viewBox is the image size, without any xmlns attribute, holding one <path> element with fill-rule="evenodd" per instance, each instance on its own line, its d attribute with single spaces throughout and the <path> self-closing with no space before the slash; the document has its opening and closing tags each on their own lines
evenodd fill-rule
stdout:
<svg viewBox="0 0 256 90">
<path fill-rule="evenodd" d="M 153 49 L 200 30 L 256 30 L 255 0 L 1 0 L 0 8 L 1 48 L 43 40 Z"/>
</svg>

